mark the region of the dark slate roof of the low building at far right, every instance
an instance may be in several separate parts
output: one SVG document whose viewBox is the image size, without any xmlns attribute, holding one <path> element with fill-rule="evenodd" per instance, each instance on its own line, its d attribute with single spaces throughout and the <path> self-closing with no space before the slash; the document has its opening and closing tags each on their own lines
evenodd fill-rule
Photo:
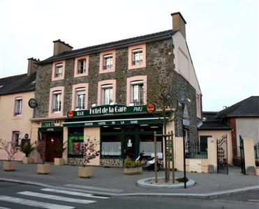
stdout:
<svg viewBox="0 0 259 209">
<path fill-rule="evenodd" d="M 251 96 L 219 111 L 216 118 L 259 116 L 259 96 Z"/>
</svg>

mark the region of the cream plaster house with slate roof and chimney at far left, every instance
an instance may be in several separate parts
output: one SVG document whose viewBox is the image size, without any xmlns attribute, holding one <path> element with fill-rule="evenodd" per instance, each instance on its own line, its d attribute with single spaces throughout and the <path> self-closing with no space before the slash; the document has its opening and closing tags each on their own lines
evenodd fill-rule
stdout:
<svg viewBox="0 0 259 209">
<path fill-rule="evenodd" d="M 17 146 L 25 134 L 31 136 L 31 121 L 34 110 L 28 105 L 34 98 L 36 83 L 36 62 L 28 59 L 26 74 L 0 79 L 0 138 L 13 141 Z M 7 160 L 7 153 L 0 149 L 0 159 Z M 22 160 L 22 153 L 15 154 L 15 160 Z"/>
</svg>

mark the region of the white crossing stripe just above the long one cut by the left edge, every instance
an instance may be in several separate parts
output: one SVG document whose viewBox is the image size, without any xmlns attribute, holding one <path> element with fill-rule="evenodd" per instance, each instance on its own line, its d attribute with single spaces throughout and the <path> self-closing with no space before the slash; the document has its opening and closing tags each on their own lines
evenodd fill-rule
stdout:
<svg viewBox="0 0 259 209">
<path fill-rule="evenodd" d="M 66 201 L 66 202 L 71 202 L 71 203 L 82 203 L 82 204 L 89 204 L 89 203 L 95 203 L 96 201 L 90 201 L 90 200 L 85 200 L 85 199 L 75 199 L 75 198 L 68 198 L 64 196 L 57 196 L 57 195 L 52 195 L 52 194 L 43 194 L 43 193 L 38 193 L 38 192 L 17 192 L 17 194 L 23 194 L 23 195 L 28 195 L 28 196 L 36 196 L 40 198 L 45 198 L 45 199 L 54 199 L 57 201 Z"/>
</svg>

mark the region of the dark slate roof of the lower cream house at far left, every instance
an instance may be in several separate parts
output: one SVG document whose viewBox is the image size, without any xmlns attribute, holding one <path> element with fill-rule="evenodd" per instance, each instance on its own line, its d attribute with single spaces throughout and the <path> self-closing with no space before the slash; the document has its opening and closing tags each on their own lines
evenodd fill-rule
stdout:
<svg viewBox="0 0 259 209">
<path fill-rule="evenodd" d="M 11 93 L 22 93 L 26 91 L 34 91 L 36 80 L 36 72 L 29 77 L 27 74 L 4 77 L 0 79 L 0 95 L 8 95 Z"/>
</svg>

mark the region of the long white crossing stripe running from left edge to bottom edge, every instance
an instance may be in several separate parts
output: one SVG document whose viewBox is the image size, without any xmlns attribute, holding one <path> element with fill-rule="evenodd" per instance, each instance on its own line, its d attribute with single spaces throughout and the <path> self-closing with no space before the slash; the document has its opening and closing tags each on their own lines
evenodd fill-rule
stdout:
<svg viewBox="0 0 259 209">
<path fill-rule="evenodd" d="M 26 206 L 34 206 L 37 208 L 47 208 L 47 209 L 72 209 L 72 208 L 75 208 L 75 207 L 71 207 L 71 206 L 62 206 L 62 205 L 57 205 L 57 204 L 52 204 L 52 203 L 33 201 L 33 200 L 29 200 L 29 199 L 22 199 L 22 198 L 17 198 L 14 196 L 5 196 L 5 195 L 0 195 L 0 201 L 6 201 L 6 202 L 10 202 L 10 203 L 17 203 L 17 204 L 26 205 Z"/>
</svg>

